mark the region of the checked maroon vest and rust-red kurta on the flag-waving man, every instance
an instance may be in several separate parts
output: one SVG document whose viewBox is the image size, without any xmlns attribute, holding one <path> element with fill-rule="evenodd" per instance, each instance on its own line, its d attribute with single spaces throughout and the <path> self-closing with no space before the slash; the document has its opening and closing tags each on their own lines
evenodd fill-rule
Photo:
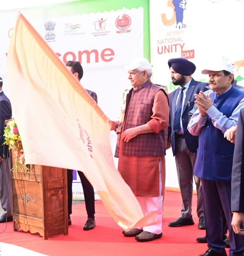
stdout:
<svg viewBox="0 0 244 256">
<path fill-rule="evenodd" d="M 154 132 L 139 134 L 129 142 L 118 134 L 115 156 L 119 156 L 118 171 L 140 197 L 158 197 L 159 164 L 161 164 L 162 193 L 165 184 L 165 149 L 169 122 L 168 101 L 163 91 L 150 80 L 127 95 L 125 129 L 148 124 Z M 162 194 L 161 193 L 161 194 Z"/>
</svg>

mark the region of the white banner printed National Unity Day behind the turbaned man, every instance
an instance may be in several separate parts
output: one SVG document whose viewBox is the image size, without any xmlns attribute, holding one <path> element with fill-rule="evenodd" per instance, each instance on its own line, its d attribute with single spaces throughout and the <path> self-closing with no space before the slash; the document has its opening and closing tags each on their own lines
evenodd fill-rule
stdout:
<svg viewBox="0 0 244 256">
<path fill-rule="evenodd" d="M 150 35 L 153 81 L 171 83 L 167 61 L 186 58 L 196 65 L 195 80 L 211 59 L 228 56 L 236 66 L 235 78 L 244 85 L 242 51 L 243 0 L 151 0 Z"/>
</svg>

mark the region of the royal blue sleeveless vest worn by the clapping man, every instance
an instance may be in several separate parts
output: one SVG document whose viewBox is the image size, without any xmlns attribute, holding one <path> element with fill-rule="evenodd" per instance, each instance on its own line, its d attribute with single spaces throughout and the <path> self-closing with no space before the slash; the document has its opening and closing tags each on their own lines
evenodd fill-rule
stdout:
<svg viewBox="0 0 244 256">
<path fill-rule="evenodd" d="M 212 94 L 213 105 L 226 117 L 230 117 L 239 102 L 244 98 L 244 92 L 232 86 L 226 93 Z M 199 134 L 194 174 L 199 178 L 214 181 L 230 181 L 234 144 L 224 138 L 220 129 L 213 126 L 208 117 Z"/>
</svg>

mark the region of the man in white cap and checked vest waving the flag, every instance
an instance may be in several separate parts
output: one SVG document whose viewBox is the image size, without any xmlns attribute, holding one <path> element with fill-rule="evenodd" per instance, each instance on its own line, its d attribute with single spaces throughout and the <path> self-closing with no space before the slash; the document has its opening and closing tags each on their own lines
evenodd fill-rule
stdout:
<svg viewBox="0 0 244 256">
<path fill-rule="evenodd" d="M 124 68 L 133 88 L 126 96 L 124 117 L 117 129 L 118 171 L 132 189 L 144 215 L 157 211 L 158 221 L 123 234 L 135 236 L 137 241 L 151 241 L 162 237 L 169 106 L 163 89 L 150 81 L 152 65 L 147 59 L 135 58 Z M 113 123 L 117 128 L 118 122 Z"/>
</svg>

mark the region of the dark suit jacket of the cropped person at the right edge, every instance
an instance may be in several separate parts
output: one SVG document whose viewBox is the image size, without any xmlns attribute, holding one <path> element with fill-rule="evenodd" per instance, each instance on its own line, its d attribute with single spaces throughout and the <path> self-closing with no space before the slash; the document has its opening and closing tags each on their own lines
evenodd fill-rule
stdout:
<svg viewBox="0 0 244 256">
<path fill-rule="evenodd" d="M 234 146 L 231 210 L 233 212 L 244 212 L 244 108 L 240 111 Z"/>
</svg>

